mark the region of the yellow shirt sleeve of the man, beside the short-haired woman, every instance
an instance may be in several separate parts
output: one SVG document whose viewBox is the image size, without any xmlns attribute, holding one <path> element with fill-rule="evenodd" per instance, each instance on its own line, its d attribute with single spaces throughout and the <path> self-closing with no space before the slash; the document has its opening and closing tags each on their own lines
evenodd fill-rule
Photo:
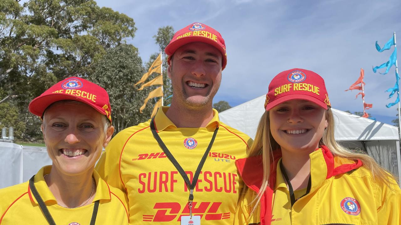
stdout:
<svg viewBox="0 0 401 225">
<path fill-rule="evenodd" d="M 106 147 L 106 151 L 103 152 L 97 162 L 95 169 L 100 177 L 102 177 L 109 185 L 126 192 L 119 166 L 122 148 L 126 141 L 124 140 L 124 136 L 125 135 L 117 134 L 113 139 L 111 139 L 109 145 Z"/>
</svg>

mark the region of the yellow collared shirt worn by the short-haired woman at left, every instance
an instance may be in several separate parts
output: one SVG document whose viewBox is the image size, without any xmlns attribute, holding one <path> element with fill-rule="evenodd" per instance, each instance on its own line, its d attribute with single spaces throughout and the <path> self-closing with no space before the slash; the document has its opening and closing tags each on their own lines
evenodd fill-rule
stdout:
<svg viewBox="0 0 401 225">
<path fill-rule="evenodd" d="M 51 166 L 45 166 L 35 175 L 34 185 L 47 205 L 57 225 L 89 225 L 95 201 L 99 201 L 96 224 L 128 224 L 127 199 L 119 189 L 109 187 L 96 171 L 96 194 L 89 205 L 68 209 L 57 205 L 54 195 L 47 187 L 44 175 Z M 49 224 L 35 197 L 29 189 L 29 181 L 0 189 L 0 225 Z"/>
</svg>

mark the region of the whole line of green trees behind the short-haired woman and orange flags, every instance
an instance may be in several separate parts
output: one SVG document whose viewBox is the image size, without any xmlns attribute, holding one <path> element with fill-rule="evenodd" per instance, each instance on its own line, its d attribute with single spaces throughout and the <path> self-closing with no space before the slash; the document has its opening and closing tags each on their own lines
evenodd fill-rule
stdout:
<svg viewBox="0 0 401 225">
<path fill-rule="evenodd" d="M 127 43 L 136 30 L 132 18 L 93 0 L 0 0 L 0 128 L 13 126 L 19 141 L 41 141 L 41 121 L 28 112 L 28 104 L 69 76 L 107 90 L 116 133 L 149 119 L 155 99 L 144 113 L 139 107 L 153 88 L 138 91 L 133 85 L 158 52 L 143 62 Z M 153 38 L 160 51 L 173 34 L 171 26 L 159 28 Z M 164 55 L 165 75 L 166 68 Z M 164 98 L 171 94 L 164 76 Z"/>
</svg>

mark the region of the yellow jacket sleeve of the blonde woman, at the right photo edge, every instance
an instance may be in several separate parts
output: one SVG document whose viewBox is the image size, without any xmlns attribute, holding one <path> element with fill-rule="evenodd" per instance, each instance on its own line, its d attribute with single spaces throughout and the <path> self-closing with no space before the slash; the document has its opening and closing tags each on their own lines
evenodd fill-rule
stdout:
<svg viewBox="0 0 401 225">
<path fill-rule="evenodd" d="M 395 181 L 394 181 L 395 183 Z M 401 190 L 395 183 L 391 188 L 382 185 L 377 193 L 378 224 L 400 225 L 401 224 Z"/>
</svg>

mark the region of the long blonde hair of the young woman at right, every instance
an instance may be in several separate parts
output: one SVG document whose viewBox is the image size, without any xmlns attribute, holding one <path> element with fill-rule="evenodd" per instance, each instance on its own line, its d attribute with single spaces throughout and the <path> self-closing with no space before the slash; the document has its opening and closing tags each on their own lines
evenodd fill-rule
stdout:
<svg viewBox="0 0 401 225">
<path fill-rule="evenodd" d="M 360 161 L 362 161 L 363 167 L 365 167 L 372 173 L 374 181 L 381 185 L 385 184 L 393 190 L 390 184 L 395 184 L 394 177 L 383 167 L 378 165 L 375 159 L 362 152 L 351 152 L 339 145 L 337 141 L 334 140 L 334 117 L 330 107 L 326 110 L 326 119 L 328 122 L 328 127 L 325 129 L 323 137 L 319 141 L 319 146 L 327 146 L 333 156 L 339 156 L 351 160 L 359 159 Z M 263 113 L 259 121 L 255 140 L 248 152 L 248 157 L 262 155 L 263 160 L 263 180 L 259 192 L 257 193 L 255 199 L 253 199 L 253 203 L 255 204 L 251 211 L 251 214 L 257 208 L 263 193 L 266 191 L 267 186 L 269 185 L 271 172 L 270 167 L 271 163 L 273 163 L 274 161 L 273 151 L 279 151 L 279 148 L 279 144 L 271 136 L 269 112 L 266 111 L 265 113 Z"/>
</svg>

